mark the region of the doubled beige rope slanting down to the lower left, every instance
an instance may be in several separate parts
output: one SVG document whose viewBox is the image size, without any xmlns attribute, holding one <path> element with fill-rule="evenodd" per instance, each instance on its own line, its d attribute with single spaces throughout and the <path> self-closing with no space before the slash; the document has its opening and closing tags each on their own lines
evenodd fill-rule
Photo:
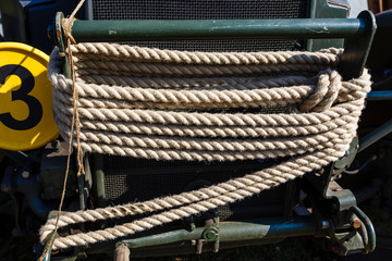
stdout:
<svg viewBox="0 0 392 261">
<path fill-rule="evenodd" d="M 346 148 L 348 148 L 348 147 L 346 147 Z M 333 150 L 333 152 L 336 152 L 336 151 Z M 331 153 L 331 151 L 329 153 Z M 270 175 L 268 173 L 270 170 L 266 170 L 267 172 L 254 173 L 255 176 L 257 176 L 257 174 L 260 174 L 261 178 L 259 178 L 259 181 L 254 184 L 252 184 L 252 182 L 249 183 L 247 179 L 245 179 L 245 184 L 247 186 L 244 186 L 243 188 L 241 185 L 241 181 L 235 179 L 234 181 L 234 182 L 236 182 L 235 189 L 233 189 L 232 191 L 229 191 L 226 194 L 210 197 L 209 199 L 206 199 L 206 200 L 196 201 L 195 203 L 183 206 L 177 209 L 172 209 L 172 210 L 162 212 L 160 214 L 155 214 L 152 216 L 137 220 L 137 221 L 126 223 L 123 225 L 118 225 L 114 227 L 96 231 L 96 232 L 88 232 L 86 234 L 77 234 L 77 235 L 71 235 L 71 236 L 58 238 L 58 239 L 56 239 L 56 241 L 53 244 L 53 249 L 66 249 L 66 248 L 74 247 L 74 246 L 87 246 L 89 244 L 96 244 L 96 243 L 103 241 L 103 240 L 115 239 L 117 237 L 132 235 L 137 232 L 149 229 L 157 225 L 170 223 L 174 220 L 180 220 L 180 219 L 186 217 L 188 215 L 196 214 L 198 212 L 207 211 L 209 209 L 213 209 L 213 208 L 217 208 L 220 206 L 235 202 L 235 201 L 244 199 L 246 197 L 250 197 L 252 195 L 258 194 L 261 190 L 269 189 L 275 185 L 284 183 L 287 179 L 292 179 L 296 176 L 301 176 L 304 173 L 314 170 L 314 167 L 318 169 L 318 167 L 320 167 L 320 164 L 326 165 L 330 161 L 336 160 L 338 157 L 341 157 L 344 154 L 344 152 L 335 153 L 336 157 L 330 157 L 329 153 L 326 154 L 322 152 L 321 153 L 318 152 L 315 154 L 309 154 L 307 158 L 305 158 L 305 157 L 303 159 L 296 158 L 296 160 L 302 163 L 301 166 L 305 166 L 305 167 L 302 167 L 302 170 L 297 170 L 298 165 L 287 164 L 283 167 L 279 167 L 280 165 L 277 165 L 275 166 L 277 173 L 272 172 L 271 173 L 272 175 Z M 311 158 L 315 162 L 311 162 Z M 320 159 L 322 159 L 322 160 L 320 160 Z M 296 169 L 295 169 L 295 166 L 296 166 Z M 280 169 L 283 169 L 283 170 L 280 170 Z M 297 172 L 299 174 L 297 174 L 297 175 L 285 174 L 284 177 L 280 177 L 279 174 L 281 174 L 282 171 L 284 171 L 284 172 L 290 171 L 291 173 L 295 173 L 295 174 Z M 209 187 L 207 190 L 212 190 L 212 189 L 213 189 L 213 187 Z M 220 190 L 222 190 L 222 189 L 220 189 Z M 194 191 L 194 192 L 196 196 L 195 200 L 199 200 L 200 197 L 197 197 L 197 196 L 200 196 L 200 194 L 198 195 L 197 191 Z M 181 195 L 179 195 L 179 196 L 181 196 Z M 173 198 L 170 198 L 170 199 L 173 199 Z M 73 213 L 74 215 L 68 215 L 68 213 L 65 213 L 64 215 L 62 215 L 62 219 L 61 219 L 61 221 L 63 223 L 59 223 L 59 227 L 63 226 L 63 225 L 66 226 L 69 224 L 73 224 L 73 223 L 85 222 L 88 220 L 96 221 L 99 219 L 108 219 L 110 216 L 119 217 L 119 216 L 132 215 L 132 214 L 136 214 L 136 213 L 146 213 L 146 212 L 150 212 L 154 210 L 173 208 L 171 206 L 171 201 L 175 202 L 175 198 L 174 198 L 174 200 L 170 200 L 170 199 L 167 199 L 167 198 L 163 198 L 161 200 L 156 199 L 156 200 L 154 200 L 154 202 L 151 202 L 151 201 L 145 202 L 146 204 L 145 203 L 130 204 L 130 206 L 114 207 L 113 209 L 99 209 L 98 211 L 93 210 L 93 211 L 89 211 L 88 213 L 86 213 L 86 211 L 84 211 L 83 215 L 77 212 Z M 164 203 L 162 204 L 160 201 L 163 201 Z M 189 201 L 189 200 L 185 200 L 185 201 Z M 184 204 L 181 201 L 175 202 L 175 203 Z M 101 214 L 103 214 L 103 215 L 101 215 Z M 41 231 L 40 231 L 41 239 L 45 238 L 44 235 L 48 235 L 51 232 L 52 227 L 53 227 L 53 225 L 48 223 L 46 226 L 44 226 L 41 228 Z"/>
</svg>

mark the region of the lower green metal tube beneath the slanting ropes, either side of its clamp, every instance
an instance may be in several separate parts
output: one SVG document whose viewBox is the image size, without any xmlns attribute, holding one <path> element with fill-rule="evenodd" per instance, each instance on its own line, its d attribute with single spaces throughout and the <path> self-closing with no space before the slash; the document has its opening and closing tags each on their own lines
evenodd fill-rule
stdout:
<svg viewBox="0 0 392 261">
<path fill-rule="evenodd" d="M 205 227 L 194 231 L 179 229 L 152 236 L 123 240 L 131 249 L 166 245 L 176 241 L 197 240 L 203 238 Z M 242 241 L 256 239 L 284 238 L 290 236 L 310 236 L 318 231 L 317 222 L 313 216 L 280 217 L 253 220 L 246 222 L 220 222 L 219 240 Z"/>
</svg>

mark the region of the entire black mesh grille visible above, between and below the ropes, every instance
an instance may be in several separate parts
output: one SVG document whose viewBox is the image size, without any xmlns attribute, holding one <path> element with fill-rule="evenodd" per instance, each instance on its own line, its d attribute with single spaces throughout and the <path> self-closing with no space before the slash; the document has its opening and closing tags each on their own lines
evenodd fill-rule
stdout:
<svg viewBox="0 0 392 261">
<path fill-rule="evenodd" d="M 94 20 L 220 20 L 304 18 L 310 0 L 93 0 Z M 301 50 L 298 40 L 210 40 L 133 42 L 145 47 L 188 51 L 275 51 Z M 278 113 L 285 108 L 266 109 Z M 196 189 L 242 176 L 268 162 L 225 163 L 157 162 L 103 156 L 107 204 L 144 201 Z M 220 209 L 221 219 L 245 219 L 282 214 L 285 185 Z"/>
</svg>

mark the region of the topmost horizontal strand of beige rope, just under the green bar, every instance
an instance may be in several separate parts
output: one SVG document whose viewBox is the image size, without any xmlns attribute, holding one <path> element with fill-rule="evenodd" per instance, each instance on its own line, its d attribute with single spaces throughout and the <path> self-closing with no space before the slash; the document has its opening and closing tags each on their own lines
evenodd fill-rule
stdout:
<svg viewBox="0 0 392 261">
<path fill-rule="evenodd" d="M 156 48 L 140 48 L 136 46 L 83 42 L 73 45 L 72 53 L 76 61 L 144 61 L 157 63 L 187 63 L 187 64 L 332 64 L 339 62 L 341 49 L 327 49 L 320 52 L 277 51 L 277 52 L 189 52 L 175 50 L 160 50 Z M 339 54 L 339 55 L 338 55 Z M 99 59 L 97 59 L 99 57 Z"/>
</svg>

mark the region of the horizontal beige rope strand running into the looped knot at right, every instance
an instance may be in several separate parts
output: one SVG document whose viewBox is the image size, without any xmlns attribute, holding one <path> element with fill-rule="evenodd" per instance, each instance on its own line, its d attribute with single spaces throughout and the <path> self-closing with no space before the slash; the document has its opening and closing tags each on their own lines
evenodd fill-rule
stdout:
<svg viewBox="0 0 392 261">
<path fill-rule="evenodd" d="M 79 97 L 91 97 L 110 100 L 122 101 L 144 101 L 144 102 L 161 102 L 169 104 L 220 104 L 220 103 L 247 103 L 250 104 L 259 102 L 258 107 L 273 107 L 287 105 L 291 103 L 298 103 L 305 100 L 311 92 L 315 86 L 293 86 L 273 89 L 252 89 L 252 90 L 171 90 L 171 89 L 146 89 L 132 88 L 109 85 L 95 85 L 76 83 L 79 89 Z M 72 101 L 72 96 L 69 88 L 64 86 L 65 94 L 69 95 L 69 100 Z"/>
</svg>

